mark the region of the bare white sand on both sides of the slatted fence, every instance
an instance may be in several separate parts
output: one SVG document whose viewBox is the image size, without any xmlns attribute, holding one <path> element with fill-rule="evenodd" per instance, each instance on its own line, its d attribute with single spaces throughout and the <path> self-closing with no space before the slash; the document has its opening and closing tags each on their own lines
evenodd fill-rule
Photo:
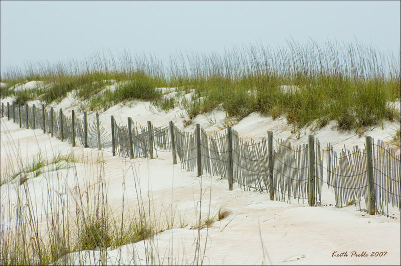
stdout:
<svg viewBox="0 0 401 266">
<path fill-rule="evenodd" d="M 63 104 L 72 106 L 74 102 L 72 99 L 68 102 L 67 99 Z M 124 123 L 128 115 L 141 124 L 145 124 L 148 119 L 151 119 L 155 125 L 166 125 L 168 120 L 173 120 L 177 124 L 182 121 L 181 117 L 175 116 L 176 110 L 169 113 L 153 113 L 148 108 L 149 104 L 146 102 L 133 101 L 131 107 L 116 105 L 100 116 L 106 125 L 110 123 L 111 114 L 119 122 Z M 221 112 L 217 111 L 215 114 L 218 119 L 222 119 Z M 211 125 L 204 119 L 202 115 L 198 115 L 195 121 L 201 123 L 201 126 L 216 128 L 216 125 Z M 315 131 L 315 136 L 322 142 L 338 142 L 339 148 L 343 144 L 363 145 L 363 137 L 352 136 L 352 132 L 338 132 L 332 130 L 330 126 L 329 124 L 321 130 Z M 384 129 L 373 128 L 368 133 L 383 139 L 388 134 L 390 126 L 391 124 L 385 125 Z M 193 124 L 188 128 L 193 128 Z M 266 130 L 273 130 L 276 137 L 292 137 L 291 127 L 286 124 L 285 118 L 272 120 L 257 113 L 252 113 L 233 128 L 240 134 L 252 135 L 255 138 L 263 136 Z M 48 157 L 52 157 L 52 154 L 58 151 L 71 150 L 69 143 L 51 138 L 48 134 L 43 134 L 40 129 L 21 129 L 18 124 L 7 121 L 7 117 L 1 119 L 0 130 L 2 172 L 5 167 L 10 166 L 8 163 L 10 159 L 6 154 L 10 154 L 9 150 L 13 145 L 17 145 L 21 161 L 32 158 L 39 150 Z M 305 142 L 308 133 L 308 131 L 302 132 L 301 138 L 294 139 L 292 142 Z M 350 138 L 344 140 L 348 136 Z M 89 160 L 87 164 L 76 164 L 76 172 L 79 176 L 78 186 L 82 189 L 95 175 L 96 171 L 91 169 L 97 169 L 100 167 L 99 165 L 104 167 L 109 204 L 116 212 L 121 207 L 121 185 L 124 180 L 125 197 L 129 202 L 126 208 L 129 206 L 133 208 L 132 206 L 136 205 L 136 187 L 141 189 L 145 199 L 149 195 L 153 202 L 152 211 L 154 213 L 165 213 L 163 210 L 172 204 L 177 209 L 176 213 L 180 213 L 184 217 L 187 226 L 165 230 L 154 237 L 152 241 L 152 249 L 155 253 L 154 264 L 189 264 L 193 262 L 197 230 L 191 230 L 190 227 L 195 225 L 198 217 L 199 207 L 197 204 L 200 200 L 201 180 L 203 189 L 201 216 L 207 217 L 209 206 L 212 216 L 221 206 L 232 211 L 232 214 L 225 219 L 215 221 L 209 231 L 206 228 L 200 230 L 201 259 L 206 247 L 204 264 L 399 265 L 401 263 L 399 252 L 401 248 L 400 213 L 398 211 L 391 213 L 395 217 L 391 218 L 385 215 L 368 215 L 353 205 L 342 208 L 308 207 L 306 204 L 270 201 L 266 193 L 243 191 L 237 185 L 234 190 L 229 191 L 227 180 L 208 175 L 204 175 L 201 179 L 196 177 L 194 172 L 181 170 L 179 164 L 173 165 L 170 152 L 160 152 L 160 158 L 157 159 L 134 159 L 132 160 L 133 170 L 129 167 L 129 159 L 113 157 L 107 150 L 98 153 L 94 149 L 75 147 L 73 151 L 77 156 Z M 103 156 L 103 163 L 94 163 L 93 161 L 99 156 Z M 135 178 L 137 178 L 136 185 Z M 39 220 L 49 209 L 49 197 L 46 195 L 48 185 L 54 191 L 61 190 L 60 192 L 67 194 L 71 193 L 69 191 L 77 185 L 72 169 L 45 172 L 38 177 L 29 179 L 27 184 L 30 187 L 29 195 L 32 197 L 32 203 L 38 208 L 36 215 Z M 63 185 L 66 185 L 67 188 Z M 0 187 L 2 204 L 5 202 L 15 203 L 16 191 L 19 189 L 22 187 L 18 187 L 16 184 L 2 185 Z M 334 197 L 332 194 L 328 194 L 331 193 L 329 189 L 323 188 L 322 193 L 324 195 L 323 205 L 334 203 Z M 5 210 L 4 208 L 3 205 L 2 211 Z M 163 215 L 158 215 L 161 220 L 165 220 Z M 5 217 L 3 221 L 7 221 L 8 218 L 10 217 Z M 175 218 L 178 220 L 178 214 Z M 13 220 L 13 218 L 11 219 Z M 206 239 L 207 243 L 205 244 Z M 132 254 L 134 253 L 135 263 L 145 264 L 145 242 L 140 241 L 114 249 L 109 248 L 107 263 L 132 264 L 134 262 Z M 147 246 L 149 250 L 149 245 Z M 337 251 L 337 254 L 346 251 L 348 256 L 333 257 L 334 251 Z M 369 256 L 351 257 L 352 251 L 357 254 L 365 251 Z M 382 257 L 371 257 L 370 254 L 376 251 L 386 251 L 387 253 Z M 86 264 L 94 264 L 98 263 L 100 251 L 81 251 L 69 256 L 74 257 L 78 254 L 80 254 L 81 260 L 86 257 L 84 260 Z M 75 258 L 74 262 L 79 264 L 80 259 Z M 200 264 L 200 260 L 197 263 Z"/>
</svg>

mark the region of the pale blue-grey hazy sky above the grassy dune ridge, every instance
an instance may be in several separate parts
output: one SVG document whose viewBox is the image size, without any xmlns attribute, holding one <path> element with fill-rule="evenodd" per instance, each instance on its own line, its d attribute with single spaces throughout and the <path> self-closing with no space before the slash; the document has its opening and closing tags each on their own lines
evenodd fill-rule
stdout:
<svg viewBox="0 0 401 266">
<path fill-rule="evenodd" d="M 222 52 L 293 38 L 398 54 L 401 1 L 0 1 L 0 68 L 93 52 Z"/>
</svg>

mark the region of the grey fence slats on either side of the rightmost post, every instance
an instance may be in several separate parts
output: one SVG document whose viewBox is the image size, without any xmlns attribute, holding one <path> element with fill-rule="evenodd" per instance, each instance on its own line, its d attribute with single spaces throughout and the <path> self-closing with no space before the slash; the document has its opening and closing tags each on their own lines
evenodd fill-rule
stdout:
<svg viewBox="0 0 401 266">
<path fill-rule="evenodd" d="M 334 191 L 337 207 L 358 204 L 359 209 L 369 209 L 368 199 L 373 197 L 375 212 L 388 215 L 389 205 L 401 209 L 401 159 L 381 140 L 372 146 L 372 184 L 368 180 L 366 148 L 354 146 L 353 150 L 348 150 L 344 147 L 337 154 L 330 144 L 327 146 L 327 183 Z M 370 195 L 369 185 L 373 191 Z"/>
</svg>

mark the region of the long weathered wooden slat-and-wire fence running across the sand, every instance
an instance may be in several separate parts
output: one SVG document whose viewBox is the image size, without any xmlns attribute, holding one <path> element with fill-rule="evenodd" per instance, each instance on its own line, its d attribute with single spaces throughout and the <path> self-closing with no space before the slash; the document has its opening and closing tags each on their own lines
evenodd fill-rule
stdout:
<svg viewBox="0 0 401 266">
<path fill-rule="evenodd" d="M 24 107 L 12 103 L 2 108 L 2 116 L 10 117 L 22 127 L 44 129 L 55 137 L 60 138 L 63 133 L 65 140 L 70 143 L 75 140 L 77 145 L 97 147 L 99 136 L 102 148 L 113 145 L 111 134 L 102 126 L 98 129 L 96 122 L 85 124 L 74 117 L 73 123 L 72 114 L 61 116 L 60 112 L 43 106 Z M 114 119 L 112 123 L 113 149 L 120 156 L 151 157 L 156 151 L 157 157 L 157 152 L 173 152 L 173 156 L 178 155 L 182 169 L 194 171 L 200 164 L 203 174 L 220 176 L 229 182 L 232 175 L 233 182 L 242 189 L 273 192 L 276 200 L 295 200 L 301 204 L 313 197 L 313 202 L 319 203 L 323 183 L 334 192 L 338 207 L 355 203 L 360 209 L 367 209 L 369 196 L 372 196 L 369 195 L 366 146 L 364 149 L 354 146 L 352 150 L 344 146 L 337 153 L 330 143 L 322 149 L 317 139 L 291 145 L 273 136 L 271 142 L 268 137 L 257 142 L 245 141 L 233 129 L 208 135 L 204 129 L 187 132 L 175 125 L 155 127 L 148 122 L 148 127 L 143 127 L 131 123 L 129 128 L 128 124 L 117 124 Z M 310 143 L 313 143 L 312 150 Z M 400 155 L 378 140 L 377 144 L 373 141 L 372 158 L 375 212 L 388 215 L 389 205 L 401 209 Z"/>
</svg>

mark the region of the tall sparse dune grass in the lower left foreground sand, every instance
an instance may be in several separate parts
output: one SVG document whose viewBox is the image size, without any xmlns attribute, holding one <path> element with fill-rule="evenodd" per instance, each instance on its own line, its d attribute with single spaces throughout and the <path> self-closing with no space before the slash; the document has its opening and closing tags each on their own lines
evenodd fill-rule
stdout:
<svg viewBox="0 0 401 266">
<path fill-rule="evenodd" d="M 2 154 L 5 160 L 2 161 L 1 178 L 0 264 L 82 264 L 87 261 L 84 250 L 100 252 L 100 257 L 92 257 L 91 263 L 124 264 L 110 262 L 108 250 L 139 241 L 143 241 L 145 257 L 137 257 L 132 249 L 130 263 L 144 259 L 143 263 L 159 264 L 159 256 L 166 251 L 157 249 L 156 234 L 187 226 L 186 211 L 182 215 L 172 198 L 169 203 L 171 209 L 164 209 L 165 220 L 160 213 L 155 213 L 150 194 L 145 195 L 136 185 L 136 200 L 126 198 L 124 173 L 120 192 L 122 199 L 118 200 L 118 205 L 115 198 L 110 201 L 109 180 L 104 164 L 99 163 L 104 161 L 103 153 L 92 152 L 89 156 L 82 153 L 81 157 L 77 157 L 73 150 L 67 153 L 52 150 L 51 154 L 39 152 L 24 161 L 20 146 L 16 144 L 18 141 L 13 140 L 10 133 L 8 135 L 8 143 L 2 144 L 7 145 L 7 154 Z M 2 141 L 6 141 L 3 136 Z M 132 171 L 134 183 L 138 184 L 139 173 L 134 162 L 122 160 Z M 51 166 L 60 163 L 68 163 L 68 167 Z M 16 183 L 8 178 L 11 173 L 19 172 L 21 175 L 34 171 L 40 171 L 35 176 L 40 178 L 39 181 L 27 178 L 22 183 Z M 38 190 L 39 183 L 41 188 Z M 200 246 L 199 238 L 195 238 L 194 242 Z M 203 255 L 198 250 L 194 260 Z"/>
</svg>

